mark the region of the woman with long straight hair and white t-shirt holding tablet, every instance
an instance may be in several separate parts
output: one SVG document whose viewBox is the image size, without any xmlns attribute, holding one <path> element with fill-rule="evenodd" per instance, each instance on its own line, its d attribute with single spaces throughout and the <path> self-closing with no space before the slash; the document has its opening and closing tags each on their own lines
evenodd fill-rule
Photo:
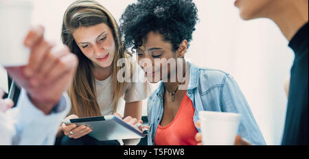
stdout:
<svg viewBox="0 0 309 159">
<path fill-rule="evenodd" d="M 132 60 L 132 54 L 124 49 L 119 27 L 111 13 L 96 1 L 75 1 L 65 12 L 61 37 L 80 62 L 69 90 L 72 110 L 67 118 L 111 114 L 120 117 L 117 112 L 124 99 L 124 121 L 130 124 L 142 122 L 142 100 L 150 94 L 149 84 L 146 81 L 121 80 L 124 77 L 122 73 L 132 79 L 144 72 Z M 122 61 L 120 64 L 119 60 Z M 86 125 L 62 124 L 59 130 L 58 137 L 65 134 L 60 141 L 62 145 L 122 143 L 95 140 L 87 135 L 92 130 Z"/>
</svg>

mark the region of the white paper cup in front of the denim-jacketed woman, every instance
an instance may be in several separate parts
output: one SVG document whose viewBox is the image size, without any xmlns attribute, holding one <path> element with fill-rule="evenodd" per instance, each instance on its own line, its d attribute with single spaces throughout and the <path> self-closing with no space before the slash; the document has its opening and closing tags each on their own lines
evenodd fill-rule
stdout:
<svg viewBox="0 0 309 159">
<path fill-rule="evenodd" d="M 203 145 L 233 145 L 238 132 L 240 114 L 200 111 Z"/>
</svg>

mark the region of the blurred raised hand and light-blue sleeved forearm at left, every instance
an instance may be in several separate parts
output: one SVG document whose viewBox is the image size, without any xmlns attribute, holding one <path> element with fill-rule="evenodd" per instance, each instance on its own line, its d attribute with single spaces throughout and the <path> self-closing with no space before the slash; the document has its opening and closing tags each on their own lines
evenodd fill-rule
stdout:
<svg viewBox="0 0 309 159">
<path fill-rule="evenodd" d="M 26 66 L 5 67 L 21 86 L 22 93 L 16 108 L 6 112 L 16 135 L 14 145 L 52 145 L 60 121 L 71 108 L 63 94 L 72 82 L 78 60 L 67 47 L 55 47 L 45 40 L 44 28 L 32 27 L 24 45 L 30 49 Z"/>
</svg>

